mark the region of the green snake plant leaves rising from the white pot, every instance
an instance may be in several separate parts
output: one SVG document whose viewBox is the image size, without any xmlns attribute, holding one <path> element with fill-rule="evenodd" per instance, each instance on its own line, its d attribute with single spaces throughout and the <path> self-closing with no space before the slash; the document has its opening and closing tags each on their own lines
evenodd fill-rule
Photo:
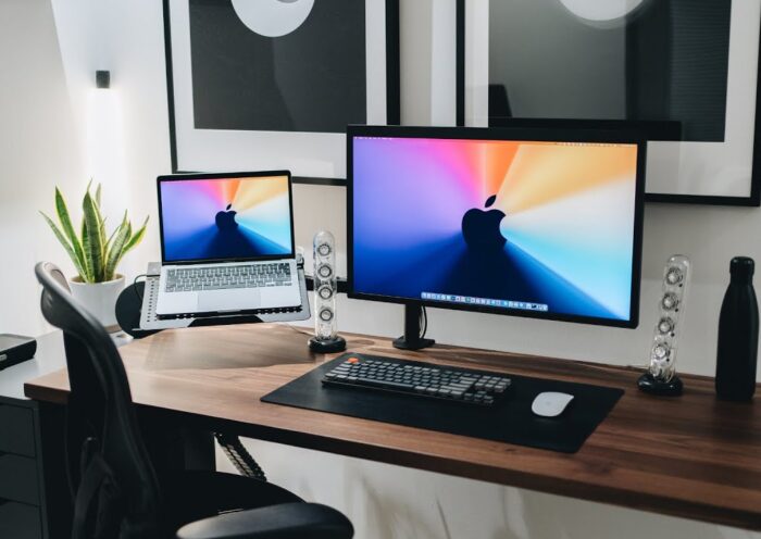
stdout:
<svg viewBox="0 0 761 539">
<path fill-rule="evenodd" d="M 66 201 L 61 195 L 61 190 L 57 187 L 55 214 L 59 223 L 57 224 L 45 213 L 40 213 L 66 250 L 72 262 L 74 262 L 74 266 L 83 283 L 105 283 L 112 280 L 122 256 L 137 246 L 146 235 L 148 217 L 146 217 L 139 229 L 133 230 L 132 223 L 127 220 L 127 212 L 125 211 L 122 222 L 107 237 L 105 218 L 100 211 L 100 185 L 98 185 L 95 195 L 90 195 L 90 185 L 87 186 L 87 191 L 82 202 L 82 226 L 79 227 L 79 235 L 77 235 L 68 214 Z"/>
</svg>

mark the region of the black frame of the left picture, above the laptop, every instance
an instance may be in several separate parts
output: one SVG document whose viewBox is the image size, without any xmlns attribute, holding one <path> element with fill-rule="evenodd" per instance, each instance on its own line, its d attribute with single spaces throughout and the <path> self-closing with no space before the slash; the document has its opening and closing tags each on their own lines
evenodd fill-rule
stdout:
<svg viewBox="0 0 761 539">
<path fill-rule="evenodd" d="M 172 43 L 171 1 L 162 0 L 164 24 L 164 55 L 166 66 L 166 93 L 169 105 L 170 156 L 173 174 L 189 174 L 205 171 L 187 170 L 182 166 L 177 148 L 177 111 L 175 100 L 175 68 Z M 399 0 L 375 0 L 384 3 L 385 12 L 385 71 L 386 71 L 386 124 L 401 123 L 400 103 L 400 46 L 399 46 Z M 340 145 L 341 150 L 345 145 Z M 235 168 L 235 167 L 233 167 Z M 346 186 L 346 178 L 320 175 L 294 175 L 294 184 Z"/>
</svg>

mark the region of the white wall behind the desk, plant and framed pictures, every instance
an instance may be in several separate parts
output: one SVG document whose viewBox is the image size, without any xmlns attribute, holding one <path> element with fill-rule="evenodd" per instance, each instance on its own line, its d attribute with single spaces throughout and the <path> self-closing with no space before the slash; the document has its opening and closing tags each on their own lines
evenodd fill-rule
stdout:
<svg viewBox="0 0 761 539">
<path fill-rule="evenodd" d="M 403 113 L 408 122 L 447 124 L 453 118 L 445 110 L 452 93 L 429 98 L 437 85 L 452 79 L 451 72 L 428 65 L 433 42 L 439 52 L 451 50 L 451 43 L 442 43 L 441 35 L 434 35 L 425 18 L 433 15 L 451 23 L 446 10 L 452 5 L 452 0 L 402 0 Z M 57 60 L 47 0 L 0 2 L 0 62 L 13 67 L 2 73 L 16 74 L 10 84 L 0 85 L 0 245 L 4 254 L 0 330 L 33 335 L 43 326 L 36 311 L 32 265 L 41 259 L 64 261 L 35 214 L 37 208 L 48 208 L 54 178 L 66 179 L 66 188 L 75 191 L 86 183 L 88 171 L 100 166 L 114 206 L 128 206 L 135 217 L 151 214 L 148 239 L 124 266 L 133 277 L 147 261 L 159 258 L 154 178 L 170 168 L 161 2 L 52 0 L 52 7 L 63 64 Z M 450 67 L 453 70 L 453 62 Z M 112 171 L 92 163 L 92 151 L 84 142 L 87 95 L 96 68 L 112 71 L 113 88 L 122 101 L 124 155 Z M 63 95 L 64 72 L 68 102 Z M 11 121 L 5 122 L 7 117 Z M 345 253 L 344 190 L 297 186 L 295 199 L 297 241 L 309 250 L 311 235 L 325 226 L 336 233 Z M 761 260 L 761 210 L 649 205 L 645 228 L 638 329 L 431 310 L 431 336 L 441 342 L 516 352 L 644 363 L 663 263 L 682 252 L 693 259 L 695 274 L 678 368 L 711 374 L 728 261 L 734 254 Z M 9 252 L 12 256 L 7 258 Z M 344 299 L 339 308 L 344 331 L 396 336 L 401 330 L 397 305 Z M 18 311 L 23 315 L 15 314 Z M 361 539 L 761 537 L 296 448 L 264 442 L 251 442 L 251 448 L 274 481 L 347 512 Z"/>
</svg>

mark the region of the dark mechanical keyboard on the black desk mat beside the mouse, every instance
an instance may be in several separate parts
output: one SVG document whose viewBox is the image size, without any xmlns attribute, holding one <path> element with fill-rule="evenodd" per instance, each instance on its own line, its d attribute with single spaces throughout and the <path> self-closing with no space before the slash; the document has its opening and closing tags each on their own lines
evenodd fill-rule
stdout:
<svg viewBox="0 0 761 539">
<path fill-rule="evenodd" d="M 346 361 L 325 373 L 322 383 L 484 406 L 502 399 L 512 385 L 510 378 L 498 373 L 367 354 L 348 354 Z"/>
</svg>

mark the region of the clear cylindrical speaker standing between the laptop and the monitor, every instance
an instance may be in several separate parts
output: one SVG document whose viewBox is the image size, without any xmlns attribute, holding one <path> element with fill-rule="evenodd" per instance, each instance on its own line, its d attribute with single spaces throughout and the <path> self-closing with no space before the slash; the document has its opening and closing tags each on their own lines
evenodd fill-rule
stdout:
<svg viewBox="0 0 761 539">
<path fill-rule="evenodd" d="M 346 341 L 338 336 L 336 319 L 336 239 L 327 230 L 314 235 L 314 337 L 309 347 L 315 352 L 339 352 Z"/>
</svg>

